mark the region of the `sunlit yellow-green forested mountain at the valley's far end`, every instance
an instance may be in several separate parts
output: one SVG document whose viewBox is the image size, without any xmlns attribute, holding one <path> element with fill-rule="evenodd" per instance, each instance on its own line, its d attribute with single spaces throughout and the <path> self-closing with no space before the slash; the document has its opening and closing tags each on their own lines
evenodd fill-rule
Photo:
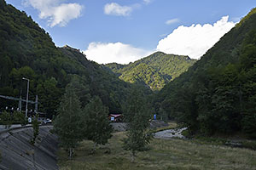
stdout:
<svg viewBox="0 0 256 170">
<path fill-rule="evenodd" d="M 195 61 L 188 56 L 156 52 L 128 65 L 110 63 L 105 66 L 125 82 L 138 82 L 153 90 L 160 90 L 167 82 L 187 71 Z"/>
</svg>

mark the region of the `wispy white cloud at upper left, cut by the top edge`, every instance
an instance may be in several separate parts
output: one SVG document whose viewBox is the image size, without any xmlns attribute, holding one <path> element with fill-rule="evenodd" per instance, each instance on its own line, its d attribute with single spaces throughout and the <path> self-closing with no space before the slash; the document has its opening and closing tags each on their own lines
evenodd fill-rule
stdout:
<svg viewBox="0 0 256 170">
<path fill-rule="evenodd" d="M 67 26 L 70 20 L 81 15 L 84 8 L 79 3 L 61 3 L 61 0 L 24 0 L 23 4 L 39 11 L 40 19 L 48 19 L 49 26 Z"/>
</svg>

